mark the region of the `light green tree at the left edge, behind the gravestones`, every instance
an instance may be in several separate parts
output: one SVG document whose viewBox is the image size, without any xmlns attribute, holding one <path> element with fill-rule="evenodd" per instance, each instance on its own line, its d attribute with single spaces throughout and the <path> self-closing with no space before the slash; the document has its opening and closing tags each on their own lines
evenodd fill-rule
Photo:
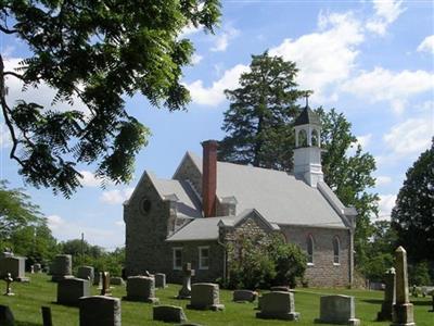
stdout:
<svg viewBox="0 0 434 326">
<path fill-rule="evenodd" d="M 15 230 L 42 218 L 23 189 L 8 189 L 7 185 L 0 180 L 0 243 L 10 240 Z"/>
</svg>

